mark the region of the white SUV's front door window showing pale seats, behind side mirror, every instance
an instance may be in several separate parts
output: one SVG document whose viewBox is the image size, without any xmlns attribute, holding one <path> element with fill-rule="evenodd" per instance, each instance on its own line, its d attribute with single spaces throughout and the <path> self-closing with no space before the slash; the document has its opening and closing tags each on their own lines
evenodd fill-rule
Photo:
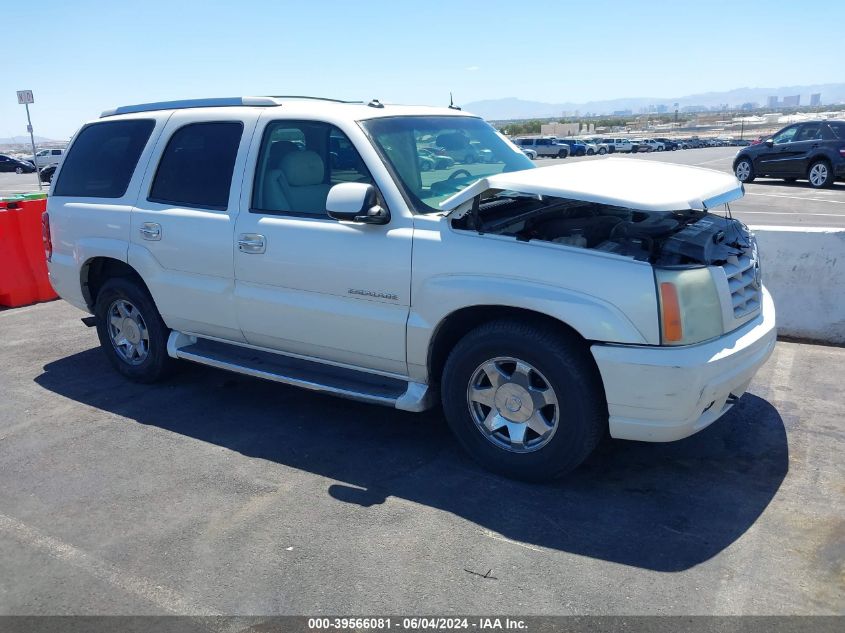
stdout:
<svg viewBox="0 0 845 633">
<path fill-rule="evenodd" d="M 329 189 L 373 184 L 349 138 L 318 121 L 272 121 L 264 130 L 252 189 L 252 213 L 326 217 Z"/>
</svg>

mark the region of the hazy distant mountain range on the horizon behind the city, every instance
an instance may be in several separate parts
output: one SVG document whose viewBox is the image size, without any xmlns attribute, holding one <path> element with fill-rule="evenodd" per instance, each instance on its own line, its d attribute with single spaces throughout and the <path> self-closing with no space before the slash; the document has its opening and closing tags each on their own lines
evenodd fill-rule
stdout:
<svg viewBox="0 0 845 633">
<path fill-rule="evenodd" d="M 759 106 L 765 107 L 768 97 L 772 95 L 779 97 L 781 101 L 786 96 L 801 95 L 801 105 L 808 105 L 810 95 L 815 93 L 821 93 L 822 104 L 842 103 L 845 102 L 845 83 L 782 86 L 780 88 L 736 88 L 727 92 L 703 92 L 683 97 L 630 97 L 606 101 L 567 101 L 565 103 L 544 103 L 508 97 L 474 101 L 461 104 L 461 107 L 485 119 L 502 121 L 561 117 L 564 116 L 564 113 L 571 116 L 575 111 L 584 115 L 588 112 L 592 114 L 612 114 L 615 111 L 631 110 L 636 114 L 641 108 L 656 105 L 667 106 L 668 112 L 674 112 L 676 103 L 679 109 L 687 106 L 712 108 L 724 104 L 730 107 L 739 107 L 744 103 L 757 103 Z"/>
</svg>

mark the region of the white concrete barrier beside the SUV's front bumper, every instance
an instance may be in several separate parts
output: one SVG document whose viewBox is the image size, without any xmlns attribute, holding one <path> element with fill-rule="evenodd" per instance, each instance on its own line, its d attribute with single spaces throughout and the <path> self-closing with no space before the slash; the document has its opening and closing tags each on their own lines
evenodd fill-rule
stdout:
<svg viewBox="0 0 845 633">
<path fill-rule="evenodd" d="M 778 334 L 845 344 L 845 229 L 752 226 Z"/>
</svg>

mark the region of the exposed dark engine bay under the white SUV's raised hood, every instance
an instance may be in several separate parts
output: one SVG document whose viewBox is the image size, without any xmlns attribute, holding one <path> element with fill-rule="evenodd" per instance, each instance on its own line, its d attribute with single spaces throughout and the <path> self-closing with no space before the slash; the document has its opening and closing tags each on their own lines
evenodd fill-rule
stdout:
<svg viewBox="0 0 845 633">
<path fill-rule="evenodd" d="M 487 192 L 453 220 L 457 229 L 593 249 L 654 265 L 722 265 L 749 248 L 739 220 L 705 209 L 638 211 L 550 196 Z"/>
</svg>

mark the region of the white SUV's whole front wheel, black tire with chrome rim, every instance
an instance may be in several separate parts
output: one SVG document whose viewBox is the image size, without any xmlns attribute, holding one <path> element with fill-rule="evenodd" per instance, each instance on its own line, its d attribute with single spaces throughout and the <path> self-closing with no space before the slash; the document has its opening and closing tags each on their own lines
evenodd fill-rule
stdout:
<svg viewBox="0 0 845 633">
<path fill-rule="evenodd" d="M 452 432 L 482 466 L 550 481 L 583 462 L 607 429 L 601 377 L 575 335 L 502 320 L 452 350 L 441 380 Z"/>
</svg>

